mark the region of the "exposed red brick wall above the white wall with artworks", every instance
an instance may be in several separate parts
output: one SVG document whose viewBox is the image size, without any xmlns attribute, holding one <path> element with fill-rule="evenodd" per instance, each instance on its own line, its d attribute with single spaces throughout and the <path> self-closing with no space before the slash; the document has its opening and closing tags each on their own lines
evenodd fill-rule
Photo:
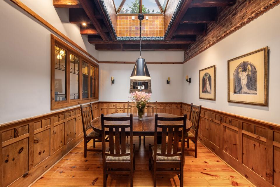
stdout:
<svg viewBox="0 0 280 187">
<path fill-rule="evenodd" d="M 237 0 L 230 8 L 218 8 L 217 21 L 207 24 L 206 35 L 198 36 L 196 42 L 185 51 L 184 61 L 216 44 L 279 2 L 280 0 Z"/>
</svg>

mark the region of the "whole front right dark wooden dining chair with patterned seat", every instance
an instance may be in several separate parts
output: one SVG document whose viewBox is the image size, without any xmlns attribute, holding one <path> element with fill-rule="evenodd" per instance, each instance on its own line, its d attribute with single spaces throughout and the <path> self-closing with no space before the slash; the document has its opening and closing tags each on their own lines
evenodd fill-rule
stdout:
<svg viewBox="0 0 280 187">
<path fill-rule="evenodd" d="M 183 124 L 158 124 L 183 121 Z M 177 174 L 180 186 L 183 187 L 184 174 L 184 147 L 187 115 L 182 117 L 158 117 L 155 114 L 154 146 L 149 146 L 149 170 L 153 169 L 154 186 L 157 186 L 157 174 Z M 181 128 L 181 129 L 180 129 Z M 157 145 L 159 129 L 162 131 L 162 142 Z M 174 129 L 174 131 L 173 131 Z M 180 131 L 179 131 L 180 130 Z M 182 131 L 181 131 L 182 130 Z M 182 133 L 181 148 L 179 149 L 179 134 Z M 166 140 L 167 137 L 167 140 Z M 173 138 L 174 137 L 174 141 Z M 173 145 L 172 145 L 173 143 Z M 154 151 L 156 149 L 156 152 Z M 183 150 L 183 151 L 182 151 Z M 164 169 L 160 171 L 159 169 Z M 170 170 L 166 170 L 170 169 Z"/>
</svg>

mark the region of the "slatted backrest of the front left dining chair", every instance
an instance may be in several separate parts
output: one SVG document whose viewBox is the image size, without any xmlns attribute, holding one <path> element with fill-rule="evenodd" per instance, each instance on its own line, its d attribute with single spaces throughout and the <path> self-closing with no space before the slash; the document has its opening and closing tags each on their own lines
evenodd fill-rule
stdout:
<svg viewBox="0 0 280 187">
<path fill-rule="evenodd" d="M 113 124 L 105 124 L 113 122 Z M 124 121 L 129 121 L 129 124 L 123 124 Z M 102 156 L 103 159 L 107 156 L 132 156 L 132 114 L 127 117 L 106 117 L 101 114 L 101 131 L 102 131 Z M 105 128 L 108 128 L 109 134 L 109 152 L 106 152 L 105 144 Z M 130 128 L 130 152 L 126 150 L 126 133 L 125 128 Z"/>
</svg>

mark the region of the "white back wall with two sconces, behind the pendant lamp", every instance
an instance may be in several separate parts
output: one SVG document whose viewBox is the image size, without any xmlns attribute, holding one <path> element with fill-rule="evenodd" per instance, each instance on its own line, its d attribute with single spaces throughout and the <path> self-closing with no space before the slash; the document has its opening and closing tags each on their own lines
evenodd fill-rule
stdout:
<svg viewBox="0 0 280 187">
<path fill-rule="evenodd" d="M 147 64 L 151 76 L 152 100 L 181 102 L 182 64 Z M 134 64 L 99 64 L 99 101 L 128 101 L 130 75 Z M 115 84 L 111 84 L 111 77 Z M 166 84 L 170 77 L 170 84 Z"/>
</svg>

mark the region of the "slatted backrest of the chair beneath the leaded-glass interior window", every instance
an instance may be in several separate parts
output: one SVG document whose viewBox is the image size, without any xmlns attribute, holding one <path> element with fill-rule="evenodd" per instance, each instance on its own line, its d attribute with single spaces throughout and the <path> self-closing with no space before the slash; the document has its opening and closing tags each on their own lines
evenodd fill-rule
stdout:
<svg viewBox="0 0 280 187">
<path fill-rule="evenodd" d="M 91 121 L 93 120 L 92 104 L 81 105 L 82 124 L 84 137 L 87 136 L 87 130 L 91 128 Z"/>
</svg>

